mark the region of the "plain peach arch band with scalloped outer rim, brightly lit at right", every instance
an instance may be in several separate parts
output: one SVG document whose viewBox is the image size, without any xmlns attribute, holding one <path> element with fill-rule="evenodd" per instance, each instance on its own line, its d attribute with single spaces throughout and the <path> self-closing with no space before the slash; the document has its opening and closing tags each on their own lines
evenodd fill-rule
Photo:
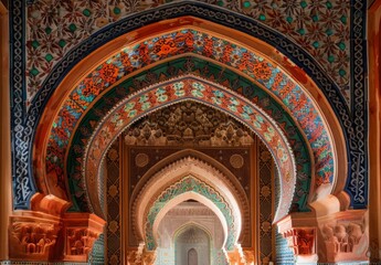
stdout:
<svg viewBox="0 0 381 265">
<path fill-rule="evenodd" d="M 178 155 L 179 153 L 174 153 L 172 156 Z M 165 160 L 170 159 L 171 158 L 167 158 Z M 151 205 L 154 200 L 160 197 L 168 183 L 171 184 L 181 181 L 182 178 L 190 174 L 216 190 L 224 198 L 226 203 L 231 205 L 232 216 L 235 220 L 235 227 L 240 236 L 242 224 L 245 220 L 246 222 L 248 221 L 248 218 L 245 216 L 248 209 L 247 198 L 244 195 L 245 193 L 242 192 L 242 187 L 239 183 L 233 184 L 231 179 L 219 169 L 205 161 L 187 156 L 162 168 L 155 168 L 156 173 L 154 176 L 144 176 L 140 181 L 145 181 L 145 177 L 149 177 L 149 181 L 147 181 L 141 189 L 136 190 L 136 193 L 131 197 L 133 226 L 137 234 L 139 234 L 140 240 L 144 237 L 142 223 L 147 216 L 148 205 Z"/>
</svg>

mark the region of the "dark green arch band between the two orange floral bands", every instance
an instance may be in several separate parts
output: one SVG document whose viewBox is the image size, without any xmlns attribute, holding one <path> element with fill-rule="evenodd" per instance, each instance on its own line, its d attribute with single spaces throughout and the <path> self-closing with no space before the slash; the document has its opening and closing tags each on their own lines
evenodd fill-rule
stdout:
<svg viewBox="0 0 381 265">
<path fill-rule="evenodd" d="M 251 81 L 242 76 L 237 78 L 236 74 L 233 71 L 229 71 L 223 66 L 213 65 L 209 61 L 203 61 L 201 59 L 190 56 L 180 57 L 169 63 L 154 66 L 140 74 L 135 75 L 134 77 L 124 81 L 119 85 L 113 87 L 93 106 L 89 112 L 86 113 L 85 117 L 81 121 L 81 125 L 78 125 L 81 129 L 78 129 L 73 137 L 73 147 L 67 155 L 67 172 L 70 177 L 68 182 L 70 187 L 72 187 L 72 194 L 75 194 L 78 204 L 87 204 L 86 200 L 84 200 L 83 198 L 85 191 L 83 189 L 83 183 L 80 181 L 81 177 L 77 176 L 78 170 L 76 168 L 81 168 L 81 163 L 78 161 L 82 161 L 86 139 L 88 138 L 91 131 L 94 130 L 104 115 L 110 112 L 114 105 L 119 103 L 129 94 L 136 91 L 140 91 L 141 88 L 145 88 L 149 85 L 156 84 L 157 82 L 166 82 L 170 78 L 177 77 L 181 73 L 191 73 L 193 77 L 200 76 L 203 81 L 209 80 L 213 83 L 218 81 L 219 84 L 231 87 L 235 93 L 246 97 L 254 104 L 258 105 L 267 115 L 272 116 L 276 120 L 276 123 L 281 127 L 281 130 L 290 142 L 295 157 L 297 157 L 297 183 L 295 188 L 296 192 L 294 193 L 293 199 L 293 208 L 297 205 L 298 210 L 306 211 L 306 197 L 310 187 L 311 165 L 309 151 L 307 148 L 308 144 L 305 142 L 303 132 L 296 129 L 296 125 L 293 118 L 283 109 L 283 107 L 278 103 L 269 97 L 267 93 L 253 85 Z M 222 80 L 219 78 L 219 76 L 221 76 L 221 73 L 223 73 L 224 76 L 224 78 Z M 161 91 L 159 94 L 160 97 L 163 97 Z M 178 95 L 181 95 L 181 93 L 178 93 Z M 66 150 L 66 147 L 64 146 L 55 146 L 55 148 L 57 149 L 57 151 L 62 149 Z M 52 159 L 54 158 L 55 153 L 59 152 L 52 152 L 50 157 L 50 161 L 53 165 L 54 161 L 57 162 L 57 160 Z M 57 167 L 60 167 L 60 165 L 57 165 Z M 62 178 L 63 176 L 61 176 L 59 180 L 59 186 L 62 186 L 64 183 L 64 180 Z"/>
</svg>

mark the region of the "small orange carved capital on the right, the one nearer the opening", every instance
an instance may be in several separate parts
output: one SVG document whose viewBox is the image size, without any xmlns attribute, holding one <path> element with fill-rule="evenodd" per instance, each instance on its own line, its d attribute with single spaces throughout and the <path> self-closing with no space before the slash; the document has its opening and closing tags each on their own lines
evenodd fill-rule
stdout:
<svg viewBox="0 0 381 265">
<path fill-rule="evenodd" d="M 288 247 L 293 250 L 295 256 L 316 254 L 316 229 L 297 227 L 282 233 L 287 239 Z"/>
</svg>

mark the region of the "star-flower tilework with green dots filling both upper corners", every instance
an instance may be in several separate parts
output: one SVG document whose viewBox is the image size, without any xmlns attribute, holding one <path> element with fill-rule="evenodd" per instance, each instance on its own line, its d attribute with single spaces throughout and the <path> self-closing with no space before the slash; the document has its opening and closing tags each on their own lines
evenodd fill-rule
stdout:
<svg viewBox="0 0 381 265">
<path fill-rule="evenodd" d="M 104 26 L 170 0 L 35 0 L 28 8 L 27 84 L 30 104 L 54 65 Z M 329 73 L 349 99 L 349 0 L 207 1 L 277 30 L 303 46 Z"/>
</svg>

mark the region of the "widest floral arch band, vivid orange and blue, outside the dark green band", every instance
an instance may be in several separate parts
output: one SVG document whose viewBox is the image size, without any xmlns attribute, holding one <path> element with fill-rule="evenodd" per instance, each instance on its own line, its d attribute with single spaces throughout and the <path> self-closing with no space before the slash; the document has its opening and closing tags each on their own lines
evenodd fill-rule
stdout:
<svg viewBox="0 0 381 265">
<path fill-rule="evenodd" d="M 221 45 L 223 49 L 219 49 Z M 49 141 L 47 172 L 54 171 L 56 165 L 62 167 L 65 148 L 78 120 L 77 117 L 85 113 L 97 95 L 112 83 L 135 70 L 186 52 L 208 55 L 233 66 L 243 74 L 257 80 L 260 84 L 278 97 L 285 108 L 288 108 L 296 117 L 314 150 L 317 186 L 332 181 L 334 159 L 328 134 L 317 110 L 300 87 L 279 68 L 274 67 L 257 54 L 194 30 L 174 31 L 146 40 L 133 47 L 126 47 L 85 77 L 73 91 L 53 124 Z M 81 107 L 78 108 L 78 106 Z M 55 171 L 59 178 L 61 173 Z"/>
</svg>

